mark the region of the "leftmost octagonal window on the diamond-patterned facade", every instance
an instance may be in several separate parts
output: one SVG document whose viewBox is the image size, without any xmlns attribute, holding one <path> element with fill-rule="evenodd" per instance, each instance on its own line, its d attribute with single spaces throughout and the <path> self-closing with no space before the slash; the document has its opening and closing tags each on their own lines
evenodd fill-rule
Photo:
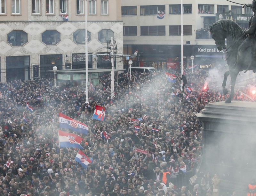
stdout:
<svg viewBox="0 0 256 196">
<path fill-rule="evenodd" d="M 11 31 L 7 34 L 7 41 L 12 46 L 23 46 L 28 42 L 28 34 L 24 31 Z"/>
</svg>

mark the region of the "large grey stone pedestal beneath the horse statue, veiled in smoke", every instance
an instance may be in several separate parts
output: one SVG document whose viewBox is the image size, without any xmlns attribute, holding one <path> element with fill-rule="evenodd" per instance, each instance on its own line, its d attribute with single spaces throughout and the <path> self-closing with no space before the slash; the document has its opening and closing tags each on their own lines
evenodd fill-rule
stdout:
<svg viewBox="0 0 256 196">
<path fill-rule="evenodd" d="M 232 195 L 234 190 L 245 195 L 245 188 L 256 178 L 256 103 L 211 103 L 196 116 L 204 128 L 197 176 L 217 172 L 223 195 Z"/>
</svg>

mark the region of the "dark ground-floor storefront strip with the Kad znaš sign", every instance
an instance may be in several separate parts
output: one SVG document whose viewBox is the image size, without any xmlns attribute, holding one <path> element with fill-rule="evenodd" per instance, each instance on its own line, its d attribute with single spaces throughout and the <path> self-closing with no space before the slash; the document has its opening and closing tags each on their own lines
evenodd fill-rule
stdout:
<svg viewBox="0 0 256 196">
<path fill-rule="evenodd" d="M 132 56 L 132 66 L 155 67 L 162 69 L 180 69 L 181 47 L 180 45 L 131 45 L 129 51 L 138 50 L 138 55 Z M 128 49 L 127 49 L 128 51 Z M 183 46 L 184 68 L 190 67 L 192 61 L 190 56 L 194 56 L 193 64 L 201 69 L 211 69 L 216 65 L 225 64 L 225 53 L 219 51 L 216 45 L 190 45 Z M 124 59 L 124 69 L 128 69 L 128 61 Z"/>
</svg>

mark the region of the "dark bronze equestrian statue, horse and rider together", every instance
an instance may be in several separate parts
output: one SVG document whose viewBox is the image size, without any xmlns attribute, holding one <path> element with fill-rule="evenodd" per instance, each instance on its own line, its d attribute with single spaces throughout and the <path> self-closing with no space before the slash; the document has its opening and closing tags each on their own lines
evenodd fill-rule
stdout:
<svg viewBox="0 0 256 196">
<path fill-rule="evenodd" d="M 252 4 L 245 4 L 251 7 L 254 15 L 249 22 L 249 29 L 243 29 L 232 20 L 220 20 L 210 25 L 210 32 L 212 39 L 215 40 L 218 50 L 226 51 L 226 61 L 229 66 L 224 74 L 222 83 L 223 94 L 228 93 L 226 88 L 227 78 L 230 75 L 231 90 L 230 95 L 225 103 L 231 103 L 234 97 L 234 88 L 236 84 L 236 77 L 240 71 L 244 73 L 248 70 L 256 72 L 256 0 Z M 227 46 L 225 45 L 227 39 Z"/>
</svg>

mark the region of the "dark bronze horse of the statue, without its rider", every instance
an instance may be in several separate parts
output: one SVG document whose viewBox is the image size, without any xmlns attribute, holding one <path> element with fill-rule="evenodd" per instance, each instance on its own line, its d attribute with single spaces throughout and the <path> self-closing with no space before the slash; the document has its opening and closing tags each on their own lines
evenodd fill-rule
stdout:
<svg viewBox="0 0 256 196">
<path fill-rule="evenodd" d="M 218 50 L 226 51 L 226 61 L 229 66 L 224 74 L 224 79 L 222 83 L 223 94 L 228 93 L 226 88 L 227 78 L 230 75 L 231 91 L 229 97 L 226 99 L 225 103 L 231 103 L 234 97 L 234 88 L 236 84 L 236 77 L 240 71 L 253 70 L 255 72 L 255 64 L 250 66 L 252 61 L 252 48 L 249 47 L 248 50 L 238 55 L 238 47 L 246 39 L 247 35 L 244 34 L 242 28 L 232 20 L 220 20 L 210 26 L 210 32 L 212 34 L 212 39 L 215 40 L 215 44 Z M 225 45 L 225 39 L 227 39 L 227 46 Z M 236 62 L 236 59 L 239 59 Z"/>
</svg>

